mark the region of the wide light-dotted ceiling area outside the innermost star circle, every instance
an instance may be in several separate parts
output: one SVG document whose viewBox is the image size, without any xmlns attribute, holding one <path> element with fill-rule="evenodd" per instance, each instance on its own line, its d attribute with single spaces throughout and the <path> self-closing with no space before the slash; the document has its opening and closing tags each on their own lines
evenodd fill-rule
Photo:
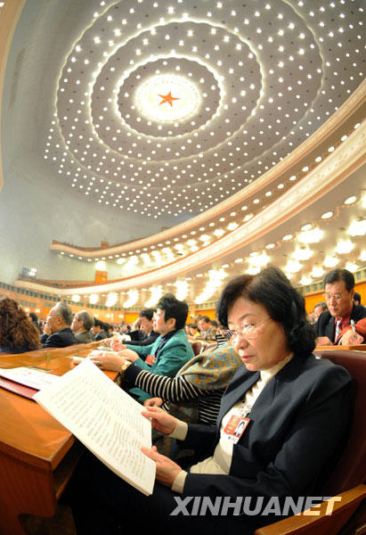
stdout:
<svg viewBox="0 0 366 535">
<path fill-rule="evenodd" d="M 69 54 L 57 95 L 59 128 L 51 128 L 48 146 L 53 145 L 59 175 L 72 177 L 99 202 L 154 218 L 166 211 L 206 210 L 270 169 L 342 102 L 335 92 L 327 94 L 323 83 L 334 76 L 334 88 L 345 84 L 333 72 L 342 53 L 335 31 L 357 43 L 356 10 L 347 13 L 345 24 L 344 8 L 334 3 L 321 5 L 319 16 L 304 2 L 249 3 L 245 9 L 220 2 L 192 6 L 176 1 L 165 7 L 146 2 L 103 7 Z M 322 48 L 328 58 L 333 54 L 331 61 L 323 62 Z M 220 112 L 193 135 L 168 134 L 167 140 L 140 134 L 137 120 L 126 128 L 115 106 L 120 80 L 158 56 L 176 61 L 178 55 L 215 72 L 223 88 Z M 360 73 L 347 57 L 349 93 Z M 209 89 L 204 80 L 201 94 Z M 295 103 L 290 114 L 281 106 L 287 101 Z M 321 116 L 315 117 L 313 103 Z M 200 158 L 203 152 L 209 163 Z"/>
</svg>

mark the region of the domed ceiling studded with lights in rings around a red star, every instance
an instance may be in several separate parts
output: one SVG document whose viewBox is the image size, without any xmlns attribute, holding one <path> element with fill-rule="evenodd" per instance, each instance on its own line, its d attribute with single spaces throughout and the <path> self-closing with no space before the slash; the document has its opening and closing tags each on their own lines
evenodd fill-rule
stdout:
<svg viewBox="0 0 366 535">
<path fill-rule="evenodd" d="M 363 6 L 74 2 L 44 158 L 94 202 L 173 221 L 207 210 L 359 86 Z"/>
</svg>

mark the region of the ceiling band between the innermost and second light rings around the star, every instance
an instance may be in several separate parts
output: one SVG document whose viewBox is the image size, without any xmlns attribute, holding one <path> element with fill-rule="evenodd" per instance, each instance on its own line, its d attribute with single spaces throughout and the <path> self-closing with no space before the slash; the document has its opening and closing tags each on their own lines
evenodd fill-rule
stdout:
<svg viewBox="0 0 366 535">
<path fill-rule="evenodd" d="M 134 115 L 133 94 L 130 95 L 130 93 L 127 92 L 126 95 L 128 96 L 126 98 L 128 101 L 129 97 L 131 118 L 134 116 L 136 123 L 132 127 L 134 128 L 135 132 L 129 132 L 129 139 L 127 139 L 126 145 L 128 148 L 134 149 L 132 152 L 139 153 L 139 151 L 141 151 L 140 153 L 142 155 L 142 159 L 151 157 L 151 149 L 155 151 L 155 157 L 151 159 L 159 161 L 161 161 L 162 159 L 172 160 L 175 159 L 175 157 L 184 159 L 184 157 L 188 157 L 193 154 L 198 154 L 202 151 L 210 150 L 213 148 L 213 146 L 216 146 L 217 143 L 224 143 L 224 141 L 228 137 L 231 137 L 234 132 L 238 131 L 241 125 L 243 124 L 243 121 L 250 117 L 250 113 L 253 112 L 256 107 L 256 103 L 260 98 L 260 92 L 262 89 L 262 74 L 260 72 L 259 64 L 256 61 L 256 56 L 254 53 L 252 53 L 247 43 L 241 41 L 240 38 L 236 35 L 229 34 L 228 36 L 228 31 L 225 29 L 212 28 L 207 24 L 199 24 L 197 22 L 181 22 L 179 24 L 180 31 L 177 32 L 177 29 L 177 24 L 171 23 L 162 27 L 158 27 L 152 37 L 150 36 L 150 32 L 144 32 L 138 37 L 134 37 L 123 48 L 116 50 L 115 53 L 110 55 L 109 61 L 103 66 L 99 75 L 95 79 L 92 95 L 92 116 L 94 124 L 96 125 L 97 135 L 102 138 L 104 144 L 107 144 L 108 146 L 110 146 L 111 149 L 114 149 L 120 154 L 123 154 L 126 151 L 124 151 L 123 147 L 120 145 L 120 136 L 116 135 L 118 134 L 118 128 L 114 126 L 114 120 L 110 121 L 111 113 L 108 113 L 108 111 L 110 109 L 110 111 L 112 112 L 113 106 L 110 106 L 109 101 L 112 100 L 112 95 L 116 94 L 117 87 L 119 87 L 121 84 L 121 78 L 119 76 L 121 70 L 126 73 L 128 77 L 130 77 L 131 73 L 134 70 L 138 70 L 140 73 L 142 69 L 146 69 L 148 66 L 151 66 L 151 64 L 154 65 L 155 62 L 151 63 L 151 60 L 156 58 L 155 55 L 150 54 L 146 58 L 145 62 L 142 61 L 140 56 L 136 60 L 131 59 L 131 56 L 134 57 L 135 49 L 141 50 L 138 47 L 142 46 L 144 40 L 147 39 L 146 36 L 149 36 L 150 46 L 159 46 L 161 41 L 164 40 L 164 36 L 169 36 L 169 47 L 173 47 L 170 52 L 172 57 L 169 58 L 167 53 L 162 54 L 162 57 L 159 58 L 160 70 L 164 67 L 164 63 L 167 63 L 167 65 L 170 67 L 171 74 L 173 74 L 175 67 L 179 66 L 180 73 L 185 78 L 190 78 L 191 74 L 192 78 L 194 77 L 194 79 L 199 80 L 199 85 L 201 86 L 200 94 L 202 97 L 214 96 L 214 98 L 216 98 L 216 101 L 214 110 L 211 109 L 212 106 L 208 106 L 210 109 L 207 110 L 209 111 L 209 113 L 207 113 L 206 121 L 199 120 L 199 125 L 190 125 L 188 131 L 187 128 L 185 129 L 185 132 L 184 130 L 182 130 L 183 134 L 182 136 L 180 136 L 179 139 L 167 139 L 166 144 L 161 144 L 160 136 L 167 136 L 167 134 L 161 133 L 159 129 L 155 129 L 154 135 L 158 137 L 158 140 L 154 144 L 153 138 L 152 140 L 150 140 L 150 147 L 146 148 L 146 140 L 143 137 L 141 137 L 141 139 L 138 138 L 138 134 L 141 133 L 141 124 L 143 124 L 143 119 Z M 202 36 L 203 32 L 204 35 L 210 36 L 209 32 L 212 29 L 215 29 L 215 34 L 211 35 L 212 42 L 209 44 L 210 53 L 205 54 L 209 57 L 205 58 L 204 55 L 204 57 L 202 58 L 202 50 L 199 47 L 199 45 L 201 44 L 200 36 Z M 190 53 L 190 62 L 184 61 L 184 59 L 186 58 L 184 58 L 182 55 L 179 55 L 179 50 L 176 50 L 179 49 L 181 32 L 183 32 L 184 35 L 190 34 L 190 32 L 192 33 L 192 47 L 194 50 L 197 49 L 195 53 Z M 245 70 L 246 74 L 246 76 L 241 77 L 243 79 L 240 80 L 240 86 L 235 92 L 235 96 L 233 96 L 232 89 L 229 90 L 229 86 L 226 86 L 224 84 L 224 78 L 226 78 L 226 73 L 224 72 L 222 54 L 219 50 L 217 50 L 215 53 L 216 39 L 222 40 L 225 43 L 225 38 L 228 39 L 226 45 L 230 44 L 230 55 L 236 54 L 238 62 L 242 63 L 241 69 L 243 71 Z M 208 38 L 205 39 L 205 41 L 208 41 Z M 194 43 L 197 43 L 197 45 L 194 45 Z M 213 49 L 216 61 L 208 61 L 209 58 L 214 55 L 214 53 L 212 52 Z M 178 55 L 178 57 L 176 57 L 176 55 Z M 242 61 L 243 57 L 246 58 L 245 62 Z M 131 67 L 131 62 L 133 62 L 133 67 Z M 110 69 L 114 70 L 110 71 Z M 213 72 L 215 72 L 214 77 L 216 79 L 213 79 Z M 222 78 L 222 81 L 220 81 L 220 78 Z M 219 114 L 216 113 L 216 110 L 219 107 L 216 87 L 218 83 L 223 86 L 220 95 L 222 103 L 220 105 Z M 167 86 L 167 91 L 168 90 L 169 88 Z M 248 102 L 248 98 L 246 98 L 247 94 L 250 95 L 250 102 Z M 232 99 L 237 102 L 237 105 L 240 109 L 240 114 L 232 113 Z M 124 116 L 126 117 L 126 112 Z M 100 120 L 101 117 L 102 119 Z M 107 118 L 109 119 L 106 120 Z M 128 117 L 128 119 L 131 118 Z M 227 124 L 231 125 L 230 131 L 225 128 L 226 120 L 229 121 Z M 128 121 L 128 126 L 131 128 L 131 120 Z M 209 130 L 207 132 L 208 128 Z M 190 139 L 191 131 L 195 131 L 198 134 L 199 144 L 188 144 L 188 139 Z M 215 133 L 215 141 L 214 137 L 212 136 L 213 133 Z M 113 136 L 113 134 L 115 134 L 115 136 Z M 184 149 L 182 149 L 182 146 L 184 146 Z"/>
</svg>

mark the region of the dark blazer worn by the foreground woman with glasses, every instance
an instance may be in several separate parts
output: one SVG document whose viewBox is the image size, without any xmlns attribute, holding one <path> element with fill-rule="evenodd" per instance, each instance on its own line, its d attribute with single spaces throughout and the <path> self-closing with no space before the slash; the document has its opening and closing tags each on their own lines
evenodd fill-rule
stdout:
<svg viewBox="0 0 366 535">
<path fill-rule="evenodd" d="M 182 447 L 213 455 L 223 416 L 259 378 L 245 366 L 226 389 L 216 427 L 190 424 Z M 187 496 L 321 496 L 322 484 L 344 446 L 351 377 L 329 360 L 292 358 L 266 384 L 232 450 L 228 476 L 188 473 Z M 207 448 L 208 445 L 208 448 Z M 204 449 L 206 446 L 206 450 Z"/>
</svg>

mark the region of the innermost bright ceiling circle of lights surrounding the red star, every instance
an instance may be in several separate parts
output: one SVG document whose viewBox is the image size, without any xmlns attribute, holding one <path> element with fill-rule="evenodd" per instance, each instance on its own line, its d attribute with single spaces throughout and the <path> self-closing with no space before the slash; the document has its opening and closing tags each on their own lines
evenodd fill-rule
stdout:
<svg viewBox="0 0 366 535">
<path fill-rule="evenodd" d="M 138 132 L 146 136 L 183 136 L 207 124 L 217 113 L 220 85 L 206 67 L 185 58 L 160 58 L 150 65 L 150 70 L 155 74 L 149 76 L 144 67 L 134 70 L 120 86 L 118 112 L 130 128 L 138 125 Z M 184 74 L 172 74 L 180 71 Z M 193 82 L 202 77 L 215 99 L 213 109 L 205 108 L 207 95 L 202 95 L 201 88 Z M 178 99 L 171 105 L 159 96 L 168 93 Z"/>
</svg>

